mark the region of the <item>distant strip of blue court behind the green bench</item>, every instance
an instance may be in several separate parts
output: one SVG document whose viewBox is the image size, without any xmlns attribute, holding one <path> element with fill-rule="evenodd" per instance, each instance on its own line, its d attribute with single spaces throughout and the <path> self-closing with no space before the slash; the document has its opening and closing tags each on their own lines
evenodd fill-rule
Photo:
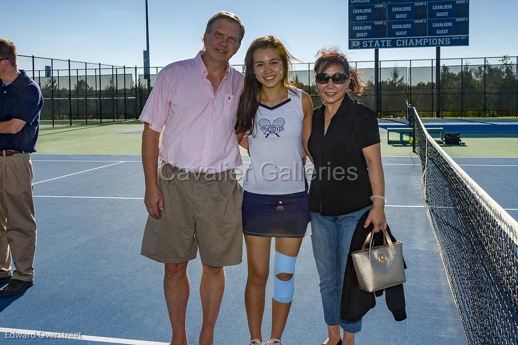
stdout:
<svg viewBox="0 0 518 345">
<path fill-rule="evenodd" d="M 425 127 L 442 127 L 444 132 L 461 132 L 464 135 L 518 135 L 518 119 L 422 119 Z M 404 119 L 380 120 L 380 128 L 408 127 Z"/>
</svg>

